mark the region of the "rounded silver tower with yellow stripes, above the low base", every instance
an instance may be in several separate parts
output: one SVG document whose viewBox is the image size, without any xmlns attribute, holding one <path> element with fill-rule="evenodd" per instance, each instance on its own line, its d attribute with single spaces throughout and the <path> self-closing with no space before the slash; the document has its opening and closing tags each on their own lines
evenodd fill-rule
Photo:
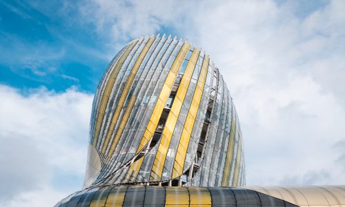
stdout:
<svg viewBox="0 0 345 207">
<path fill-rule="evenodd" d="M 97 88 L 84 187 L 242 186 L 242 135 L 226 83 L 187 41 L 141 37 Z"/>
</svg>

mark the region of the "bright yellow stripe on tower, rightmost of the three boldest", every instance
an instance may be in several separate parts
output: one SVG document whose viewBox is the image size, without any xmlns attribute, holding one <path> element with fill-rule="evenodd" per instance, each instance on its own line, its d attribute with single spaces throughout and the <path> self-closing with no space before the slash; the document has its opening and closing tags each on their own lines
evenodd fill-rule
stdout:
<svg viewBox="0 0 345 207">
<path fill-rule="evenodd" d="M 192 103 L 190 104 L 189 112 L 184 124 L 184 129 L 179 140 L 179 146 L 177 148 L 177 154 L 175 157 L 174 169 L 172 170 L 172 179 L 179 177 L 183 173 L 184 161 L 186 159 L 186 152 L 188 143 L 190 141 L 190 133 L 193 130 L 195 124 L 195 118 L 197 117 L 197 111 L 199 110 L 199 104 L 201 101 L 202 93 L 204 92 L 204 86 L 206 83 L 206 76 L 208 72 L 209 57 L 204 57 L 204 61 L 201 66 L 201 72 L 197 81 L 197 88 L 193 95 Z"/>
</svg>

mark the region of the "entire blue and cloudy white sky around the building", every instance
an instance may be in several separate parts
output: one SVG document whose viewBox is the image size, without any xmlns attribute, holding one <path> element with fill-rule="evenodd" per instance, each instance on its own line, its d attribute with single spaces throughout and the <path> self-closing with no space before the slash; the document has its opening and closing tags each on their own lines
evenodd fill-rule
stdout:
<svg viewBox="0 0 345 207">
<path fill-rule="evenodd" d="M 247 185 L 345 184 L 345 1 L 0 1 L 0 206 L 81 189 L 92 99 L 128 41 L 172 34 L 224 77 Z"/>
</svg>

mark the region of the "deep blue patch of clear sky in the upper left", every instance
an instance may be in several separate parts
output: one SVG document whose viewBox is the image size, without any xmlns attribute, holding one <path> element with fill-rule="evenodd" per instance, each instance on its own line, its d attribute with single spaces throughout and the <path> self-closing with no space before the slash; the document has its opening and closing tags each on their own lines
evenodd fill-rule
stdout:
<svg viewBox="0 0 345 207">
<path fill-rule="evenodd" d="M 106 39 L 63 1 L 1 2 L 1 83 L 15 88 L 95 91 L 108 58 Z"/>
</svg>

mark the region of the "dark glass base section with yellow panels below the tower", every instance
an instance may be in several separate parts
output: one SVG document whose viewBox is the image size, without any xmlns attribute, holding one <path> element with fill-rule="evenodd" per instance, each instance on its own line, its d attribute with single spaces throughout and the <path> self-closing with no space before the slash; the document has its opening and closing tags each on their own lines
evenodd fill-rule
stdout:
<svg viewBox="0 0 345 207">
<path fill-rule="evenodd" d="M 164 186 L 92 187 L 63 199 L 57 206 L 295 206 L 255 190 Z"/>
</svg>

